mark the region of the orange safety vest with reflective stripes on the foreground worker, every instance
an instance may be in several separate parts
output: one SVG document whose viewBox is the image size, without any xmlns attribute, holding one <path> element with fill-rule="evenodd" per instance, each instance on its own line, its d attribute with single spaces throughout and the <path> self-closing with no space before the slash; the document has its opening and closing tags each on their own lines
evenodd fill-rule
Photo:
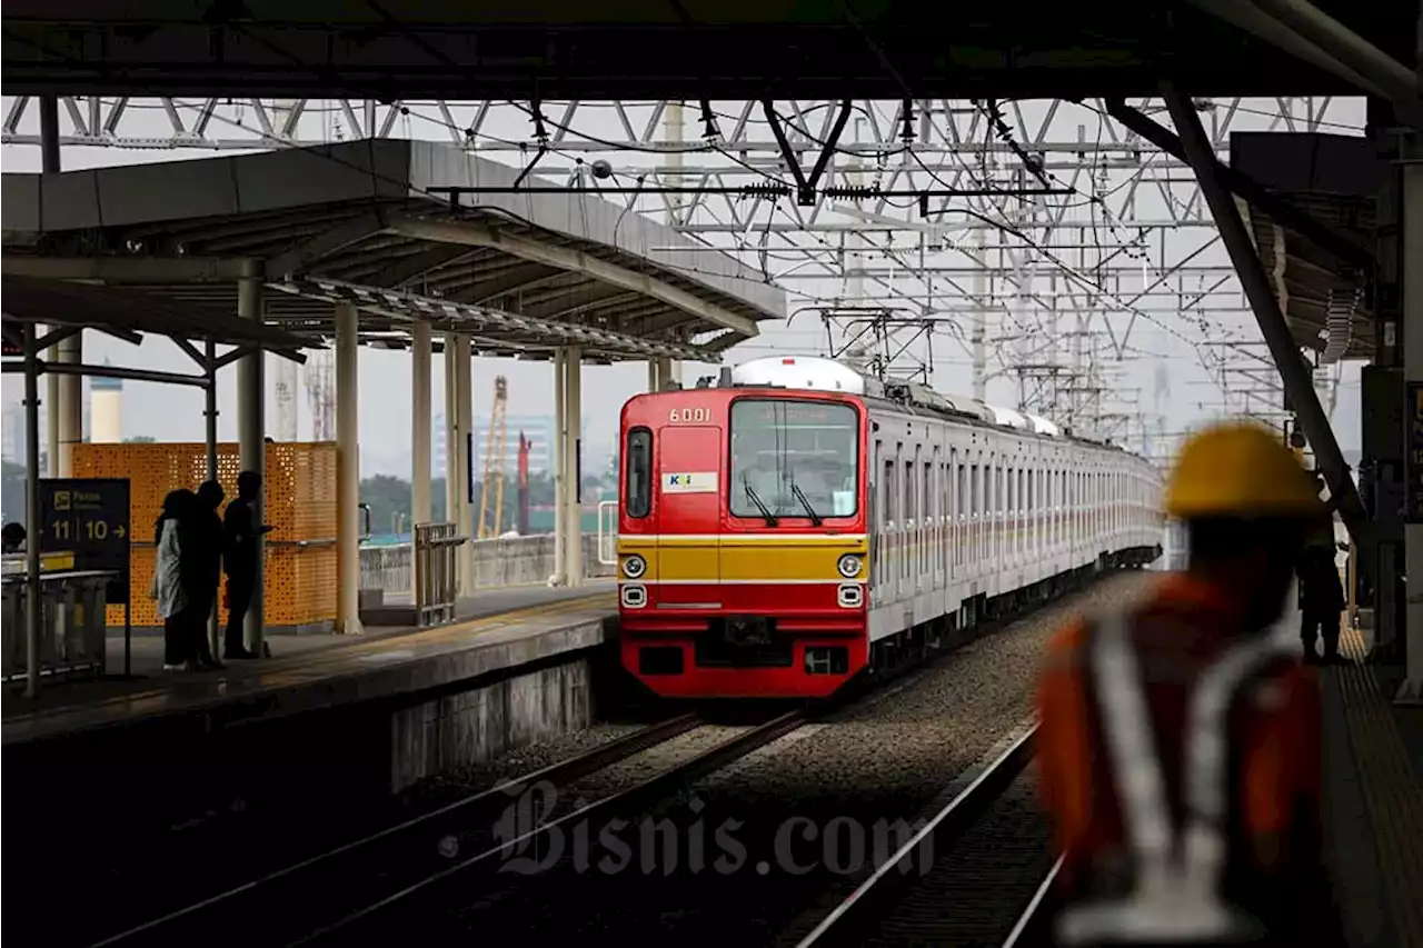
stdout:
<svg viewBox="0 0 1423 948">
<path fill-rule="evenodd" d="M 1332 912 L 1286 918 L 1299 898 L 1331 904 L 1318 685 L 1259 636 L 1232 633 L 1241 615 L 1220 589 L 1171 575 L 1133 615 L 1053 642 L 1037 759 L 1063 854 L 1060 939 L 1190 944 L 1299 924 L 1312 944 L 1338 944 Z"/>
</svg>

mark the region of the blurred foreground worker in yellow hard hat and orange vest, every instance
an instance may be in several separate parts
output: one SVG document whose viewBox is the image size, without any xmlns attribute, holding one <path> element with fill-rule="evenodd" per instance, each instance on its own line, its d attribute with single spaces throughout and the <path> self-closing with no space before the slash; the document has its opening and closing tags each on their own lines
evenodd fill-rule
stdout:
<svg viewBox="0 0 1423 948">
<path fill-rule="evenodd" d="M 1181 450 L 1190 562 L 1076 622 L 1039 689 L 1040 791 L 1063 855 L 1056 939 L 1343 945 L 1321 858 L 1321 699 L 1271 635 L 1318 491 L 1254 424 Z"/>
</svg>

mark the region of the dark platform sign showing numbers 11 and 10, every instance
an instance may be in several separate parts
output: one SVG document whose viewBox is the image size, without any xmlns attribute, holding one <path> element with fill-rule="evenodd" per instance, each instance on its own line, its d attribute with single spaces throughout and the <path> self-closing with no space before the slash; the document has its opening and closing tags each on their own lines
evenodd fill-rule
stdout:
<svg viewBox="0 0 1423 948">
<path fill-rule="evenodd" d="M 74 555 L 74 569 L 117 572 L 108 602 L 128 604 L 129 547 L 128 480 L 43 478 L 40 507 L 44 532 L 40 552 Z"/>
</svg>

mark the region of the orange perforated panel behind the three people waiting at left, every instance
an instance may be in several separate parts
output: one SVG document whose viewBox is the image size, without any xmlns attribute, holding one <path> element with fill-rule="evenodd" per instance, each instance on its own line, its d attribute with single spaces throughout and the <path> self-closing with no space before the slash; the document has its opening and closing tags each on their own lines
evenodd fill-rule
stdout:
<svg viewBox="0 0 1423 948">
<path fill-rule="evenodd" d="M 238 493 L 236 444 L 218 446 L 218 481 Z M 164 497 L 196 490 L 208 475 L 202 444 L 75 444 L 74 477 L 127 477 L 132 524 L 131 621 L 161 621 L 148 598 L 154 576 L 154 528 Z M 269 629 L 329 625 L 336 619 L 336 446 L 268 444 L 265 485 L 268 534 L 265 625 Z M 226 622 L 226 609 L 221 609 Z M 110 606 L 108 623 L 124 623 L 122 606 Z"/>
</svg>

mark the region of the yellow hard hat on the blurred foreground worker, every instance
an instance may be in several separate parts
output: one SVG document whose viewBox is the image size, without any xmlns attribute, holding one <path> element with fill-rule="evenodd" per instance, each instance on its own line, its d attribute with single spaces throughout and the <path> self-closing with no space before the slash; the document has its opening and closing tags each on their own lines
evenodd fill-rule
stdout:
<svg viewBox="0 0 1423 948">
<path fill-rule="evenodd" d="M 1248 421 L 1220 424 L 1192 436 L 1175 461 L 1165 512 L 1201 517 L 1298 517 L 1323 514 L 1313 478 L 1294 451 Z"/>
</svg>

